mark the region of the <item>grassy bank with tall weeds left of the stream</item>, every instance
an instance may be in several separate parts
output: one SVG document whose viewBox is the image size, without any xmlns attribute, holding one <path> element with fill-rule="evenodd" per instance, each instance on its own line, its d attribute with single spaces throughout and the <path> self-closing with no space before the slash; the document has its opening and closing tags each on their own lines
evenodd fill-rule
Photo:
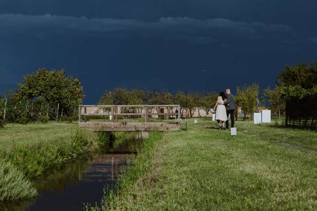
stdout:
<svg viewBox="0 0 317 211">
<path fill-rule="evenodd" d="M 0 137 L 1 201 L 37 195 L 29 178 L 99 149 L 98 135 L 77 124 L 8 124 L 0 130 Z"/>
</svg>

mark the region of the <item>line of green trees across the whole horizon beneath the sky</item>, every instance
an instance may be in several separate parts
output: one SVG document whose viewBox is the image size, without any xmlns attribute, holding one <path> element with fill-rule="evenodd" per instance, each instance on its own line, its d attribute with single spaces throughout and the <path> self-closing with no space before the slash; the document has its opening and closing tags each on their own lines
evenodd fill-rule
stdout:
<svg viewBox="0 0 317 211">
<path fill-rule="evenodd" d="M 317 93 L 317 62 L 311 62 L 310 65 L 298 63 L 298 65 L 286 65 L 282 69 L 282 73 L 277 76 L 275 87 L 271 89 L 268 86 L 262 91 L 260 96 L 260 86 L 255 81 L 252 84 L 244 84 L 237 86 L 235 103 L 236 118 L 238 108 L 241 109 L 243 120 L 249 115 L 252 117 L 256 111 L 257 99 L 259 106 L 268 106 L 272 110 L 272 115 L 278 115 L 281 118 L 286 111 L 287 102 L 298 102 L 305 99 L 315 99 Z M 3 118 L 4 108 L 11 109 L 15 112 L 17 118 L 27 116 L 22 115 L 27 102 L 36 102 L 38 105 L 47 103 L 58 104 L 58 110 L 61 109 L 66 115 L 71 115 L 72 107 L 82 103 L 85 97 L 83 87 L 77 78 L 67 76 L 66 70 L 47 70 L 45 68 L 32 72 L 23 76 L 23 83 L 18 83 L 18 89 L 15 91 L 7 90 L 6 95 L 0 96 L 0 117 Z M 232 89 L 233 91 L 233 89 Z M 169 105 L 179 104 L 180 114 L 184 115 L 184 110 L 189 110 L 192 117 L 195 110 L 200 108 L 205 111 L 205 117 L 210 113 L 217 102 L 218 93 L 214 90 L 203 92 L 189 91 L 186 95 L 184 90 L 169 92 L 168 90 L 148 90 L 139 88 L 114 88 L 113 90 L 105 90 L 97 104 L 104 105 Z M 5 99 L 5 100 L 4 100 Z M 24 101 L 23 101 L 24 100 Z M 24 102 L 24 103 L 23 103 Z M 307 118 L 315 118 L 317 103 L 306 103 L 310 110 L 306 112 Z M 41 109 L 42 109 L 41 106 Z M 10 107 L 10 108 L 9 108 Z M 129 108 L 127 108 L 129 109 Z M 131 113 L 137 112 L 136 108 Z M 159 113 L 159 107 L 156 107 Z M 168 108 L 171 109 L 171 108 Z M 129 111 L 127 111 L 129 112 Z M 199 112 L 199 109 L 198 109 Z M 68 114 L 67 114 L 68 113 Z M 200 115 L 200 114 L 199 114 Z M 306 114 L 305 114 L 306 115 Z"/>
</svg>

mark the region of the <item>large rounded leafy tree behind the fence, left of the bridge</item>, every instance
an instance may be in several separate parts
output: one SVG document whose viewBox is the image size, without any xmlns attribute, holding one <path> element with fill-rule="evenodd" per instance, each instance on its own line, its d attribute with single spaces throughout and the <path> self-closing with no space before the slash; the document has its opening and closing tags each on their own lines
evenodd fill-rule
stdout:
<svg viewBox="0 0 317 211">
<path fill-rule="evenodd" d="M 18 83 L 17 95 L 24 99 L 42 98 L 46 102 L 60 103 L 61 107 L 76 106 L 85 97 L 81 83 L 73 76 L 66 77 L 66 70 L 48 71 L 39 69 L 36 73 L 23 76 Z"/>
</svg>

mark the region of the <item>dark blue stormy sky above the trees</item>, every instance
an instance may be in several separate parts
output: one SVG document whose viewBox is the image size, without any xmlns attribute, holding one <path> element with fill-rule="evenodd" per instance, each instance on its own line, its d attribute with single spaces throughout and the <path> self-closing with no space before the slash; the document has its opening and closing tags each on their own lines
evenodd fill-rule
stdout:
<svg viewBox="0 0 317 211">
<path fill-rule="evenodd" d="M 85 104 L 126 86 L 216 91 L 273 86 L 317 57 L 314 0 L 0 0 L 0 95 L 23 75 L 60 69 Z M 205 71 L 204 71 L 205 70 Z"/>
</svg>

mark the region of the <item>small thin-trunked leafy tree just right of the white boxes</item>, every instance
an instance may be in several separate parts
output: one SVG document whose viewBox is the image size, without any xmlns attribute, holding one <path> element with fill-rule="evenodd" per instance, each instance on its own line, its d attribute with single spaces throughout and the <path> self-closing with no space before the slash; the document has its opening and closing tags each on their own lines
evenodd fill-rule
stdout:
<svg viewBox="0 0 317 211">
<path fill-rule="evenodd" d="M 281 120 L 281 111 L 285 110 L 285 100 L 282 97 L 283 85 L 276 84 L 273 90 L 268 86 L 263 90 L 262 99 L 263 102 L 269 103 L 270 108 L 274 113 L 278 113 L 279 120 Z"/>
</svg>

